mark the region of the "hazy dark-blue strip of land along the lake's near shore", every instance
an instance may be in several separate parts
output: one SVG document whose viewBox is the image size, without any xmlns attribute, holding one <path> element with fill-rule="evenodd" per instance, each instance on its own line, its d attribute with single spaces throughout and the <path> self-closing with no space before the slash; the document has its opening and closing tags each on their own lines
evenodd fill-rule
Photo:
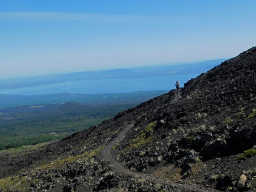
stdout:
<svg viewBox="0 0 256 192">
<path fill-rule="evenodd" d="M 80 102 L 87 105 L 139 104 L 159 96 L 167 90 L 136 91 L 131 93 L 73 94 L 55 93 L 45 95 L 5 95 L 0 94 L 0 109 L 19 105 L 45 105 L 54 103 Z"/>
</svg>

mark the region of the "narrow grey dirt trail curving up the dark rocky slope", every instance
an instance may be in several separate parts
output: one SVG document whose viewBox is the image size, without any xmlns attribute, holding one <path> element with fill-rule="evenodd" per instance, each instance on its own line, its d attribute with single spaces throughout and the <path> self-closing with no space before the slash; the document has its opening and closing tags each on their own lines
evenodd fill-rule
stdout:
<svg viewBox="0 0 256 192">
<path fill-rule="evenodd" d="M 172 99 L 172 101 L 170 103 L 172 104 L 172 103 L 176 102 L 179 99 L 179 96 L 180 96 L 180 91 L 178 94 L 175 94 L 175 97 Z M 125 167 L 125 165 L 123 165 L 121 162 L 117 161 L 115 155 L 113 155 L 113 153 L 112 153 L 113 146 L 115 146 L 119 140 L 122 140 L 126 136 L 127 132 L 130 131 L 131 128 L 133 128 L 133 127 L 134 127 L 134 123 L 131 123 L 131 124 L 123 127 L 122 131 L 120 131 L 119 134 L 113 140 L 111 140 L 111 142 L 108 143 L 108 145 L 101 152 L 102 157 L 107 162 L 109 162 L 109 164 L 111 164 L 113 166 L 112 169 L 114 172 L 138 175 L 138 173 L 131 172 L 129 169 L 127 169 Z"/>
</svg>

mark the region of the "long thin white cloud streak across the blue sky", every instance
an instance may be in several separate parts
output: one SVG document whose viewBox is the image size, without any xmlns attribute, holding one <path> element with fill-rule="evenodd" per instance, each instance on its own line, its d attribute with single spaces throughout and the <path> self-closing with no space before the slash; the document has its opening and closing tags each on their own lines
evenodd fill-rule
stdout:
<svg viewBox="0 0 256 192">
<path fill-rule="evenodd" d="M 0 12 L 0 20 L 87 21 L 111 23 L 180 23 L 196 20 L 193 17 L 111 15 L 68 12 Z"/>
</svg>

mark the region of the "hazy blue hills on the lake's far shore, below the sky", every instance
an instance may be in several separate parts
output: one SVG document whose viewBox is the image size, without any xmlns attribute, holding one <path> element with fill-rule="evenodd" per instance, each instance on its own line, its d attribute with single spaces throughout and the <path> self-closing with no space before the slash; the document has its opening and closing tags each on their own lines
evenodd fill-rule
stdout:
<svg viewBox="0 0 256 192">
<path fill-rule="evenodd" d="M 134 67 L 131 69 L 113 69 L 105 71 L 87 71 L 79 73 L 53 74 L 31 76 L 13 79 L 1 79 L 0 90 L 32 87 L 44 84 L 55 84 L 67 81 L 96 80 L 96 79 L 134 79 L 184 74 L 200 74 L 215 67 L 225 59 L 204 61 L 193 64 L 158 65 L 151 67 Z"/>
</svg>

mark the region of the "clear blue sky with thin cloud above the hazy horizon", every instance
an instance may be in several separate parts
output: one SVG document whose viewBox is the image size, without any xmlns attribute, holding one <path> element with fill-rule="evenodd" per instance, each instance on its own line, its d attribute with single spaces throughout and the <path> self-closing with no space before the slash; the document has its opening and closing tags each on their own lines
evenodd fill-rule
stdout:
<svg viewBox="0 0 256 192">
<path fill-rule="evenodd" d="M 231 58 L 256 0 L 0 0 L 0 78 Z"/>
</svg>

